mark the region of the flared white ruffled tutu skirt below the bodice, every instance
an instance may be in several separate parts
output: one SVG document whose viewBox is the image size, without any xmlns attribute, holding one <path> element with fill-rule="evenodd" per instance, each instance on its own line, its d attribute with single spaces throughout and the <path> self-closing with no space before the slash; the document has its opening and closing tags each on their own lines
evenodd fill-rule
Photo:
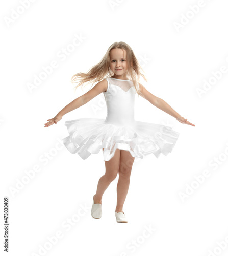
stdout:
<svg viewBox="0 0 228 256">
<path fill-rule="evenodd" d="M 169 126 L 141 121 L 116 126 L 106 123 L 105 119 L 80 118 L 66 121 L 65 125 L 69 136 L 63 143 L 70 153 L 78 153 L 82 159 L 99 153 L 102 148 L 105 161 L 114 156 L 117 148 L 141 159 L 148 154 L 157 158 L 161 153 L 167 156 L 179 137 L 179 133 Z"/>
</svg>

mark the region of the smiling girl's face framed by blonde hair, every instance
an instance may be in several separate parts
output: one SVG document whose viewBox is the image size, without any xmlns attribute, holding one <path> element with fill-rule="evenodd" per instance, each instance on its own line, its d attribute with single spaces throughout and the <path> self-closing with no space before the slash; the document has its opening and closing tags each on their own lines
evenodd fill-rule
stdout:
<svg viewBox="0 0 228 256">
<path fill-rule="evenodd" d="M 128 71 L 128 63 L 126 62 L 126 50 L 114 48 L 110 51 L 110 69 L 114 73 L 114 77 L 126 79 Z"/>
</svg>

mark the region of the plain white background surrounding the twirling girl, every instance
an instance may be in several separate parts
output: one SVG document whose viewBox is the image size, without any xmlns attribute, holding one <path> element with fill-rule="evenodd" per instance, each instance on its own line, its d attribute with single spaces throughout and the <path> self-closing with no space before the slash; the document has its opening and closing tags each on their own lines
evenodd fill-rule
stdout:
<svg viewBox="0 0 228 256">
<path fill-rule="evenodd" d="M 227 2 L 24 1 L 30 3 L 24 10 L 22 3 L 1 3 L 1 251 L 8 197 L 8 255 L 226 255 Z M 176 29 L 178 23 L 183 25 Z M 75 35 L 82 41 L 60 58 Z M 103 196 L 102 218 L 91 217 L 105 173 L 102 150 L 83 160 L 61 144 L 66 120 L 106 117 L 104 95 L 44 127 L 90 89 L 92 84 L 74 93 L 71 77 L 98 63 L 115 41 L 133 49 L 147 90 L 196 125 L 182 124 L 136 95 L 136 120 L 167 124 L 180 136 L 168 156 L 134 162 L 123 206 L 128 223 L 117 223 L 114 215 L 118 176 Z M 31 90 L 28 84 L 53 60 L 58 67 Z M 226 72 L 216 79 L 222 67 Z M 204 87 L 205 81 L 212 86 Z M 23 184 L 26 172 L 34 176 Z M 55 240 L 58 232 L 62 237 Z"/>
</svg>

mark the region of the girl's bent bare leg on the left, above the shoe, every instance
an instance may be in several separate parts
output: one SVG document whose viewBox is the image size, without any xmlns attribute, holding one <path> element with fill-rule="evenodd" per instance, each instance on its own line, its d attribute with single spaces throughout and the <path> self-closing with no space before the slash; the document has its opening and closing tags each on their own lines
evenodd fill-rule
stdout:
<svg viewBox="0 0 228 256">
<path fill-rule="evenodd" d="M 104 148 L 102 150 L 104 151 Z M 94 204 L 102 203 L 102 196 L 105 190 L 118 174 L 119 160 L 120 150 L 117 148 L 114 156 L 109 161 L 105 161 L 105 174 L 98 181 L 96 194 L 93 196 Z"/>
</svg>

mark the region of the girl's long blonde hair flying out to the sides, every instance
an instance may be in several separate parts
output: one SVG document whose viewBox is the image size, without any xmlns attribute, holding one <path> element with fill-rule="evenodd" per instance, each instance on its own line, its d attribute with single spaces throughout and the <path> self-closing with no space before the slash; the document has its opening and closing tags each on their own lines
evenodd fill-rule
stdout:
<svg viewBox="0 0 228 256">
<path fill-rule="evenodd" d="M 114 73 L 110 69 L 110 51 L 114 48 L 120 48 L 120 49 L 125 49 L 126 51 L 126 61 L 128 63 L 128 74 L 127 77 L 128 79 L 132 80 L 134 87 L 137 91 L 138 94 L 141 94 L 140 88 L 138 86 L 138 81 L 140 76 L 144 78 L 145 81 L 146 78 L 145 76 L 140 72 L 140 70 L 143 71 L 142 67 L 140 66 L 138 60 L 135 57 L 135 54 L 132 50 L 132 48 L 126 44 L 125 42 L 114 42 L 109 49 L 107 50 L 105 56 L 100 60 L 100 62 L 90 68 L 90 70 L 87 73 L 77 73 L 72 76 L 71 82 L 72 83 L 77 83 L 78 80 L 80 81 L 77 86 L 74 87 L 76 90 L 79 86 L 82 86 L 82 84 L 86 82 L 93 81 L 92 86 L 95 82 L 97 81 L 102 81 L 105 78 L 111 77 L 114 75 Z M 132 64 L 131 64 L 132 63 Z M 144 72 L 144 71 L 143 71 Z"/>
</svg>

